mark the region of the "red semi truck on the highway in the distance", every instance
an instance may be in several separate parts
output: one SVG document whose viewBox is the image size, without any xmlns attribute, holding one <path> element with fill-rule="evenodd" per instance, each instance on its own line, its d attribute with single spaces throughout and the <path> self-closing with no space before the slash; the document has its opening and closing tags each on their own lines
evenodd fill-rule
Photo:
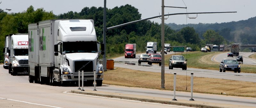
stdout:
<svg viewBox="0 0 256 108">
<path fill-rule="evenodd" d="M 136 44 L 125 44 L 124 58 L 136 57 Z"/>
</svg>

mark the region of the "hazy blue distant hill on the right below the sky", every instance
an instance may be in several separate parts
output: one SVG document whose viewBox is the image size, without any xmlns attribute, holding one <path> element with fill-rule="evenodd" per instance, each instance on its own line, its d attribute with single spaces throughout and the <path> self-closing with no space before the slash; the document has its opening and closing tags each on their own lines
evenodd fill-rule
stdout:
<svg viewBox="0 0 256 108">
<path fill-rule="evenodd" d="M 256 17 L 249 18 L 247 20 L 232 21 L 227 23 L 212 23 L 212 24 L 183 24 L 177 25 L 175 23 L 169 23 L 173 30 L 179 31 L 181 28 L 190 26 L 193 27 L 199 34 L 200 38 L 205 31 L 211 29 L 219 32 L 221 36 L 229 41 L 235 43 L 249 43 L 256 44 Z"/>
</svg>

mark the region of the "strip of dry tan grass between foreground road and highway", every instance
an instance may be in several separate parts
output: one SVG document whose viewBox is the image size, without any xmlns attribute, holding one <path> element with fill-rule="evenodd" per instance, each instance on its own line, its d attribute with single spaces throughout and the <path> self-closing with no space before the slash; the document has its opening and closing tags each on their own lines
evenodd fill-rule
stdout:
<svg viewBox="0 0 256 108">
<path fill-rule="evenodd" d="M 190 92 L 190 76 L 176 77 L 176 90 Z M 103 83 L 128 87 L 161 89 L 161 73 L 116 68 L 105 72 Z M 194 77 L 193 92 L 256 97 L 256 83 Z M 165 90 L 173 90 L 173 74 L 165 74 Z"/>
</svg>

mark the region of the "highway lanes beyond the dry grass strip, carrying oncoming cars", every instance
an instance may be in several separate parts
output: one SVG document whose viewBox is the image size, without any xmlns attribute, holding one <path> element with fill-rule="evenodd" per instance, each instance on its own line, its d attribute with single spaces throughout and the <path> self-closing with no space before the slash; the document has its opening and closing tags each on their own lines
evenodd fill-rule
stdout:
<svg viewBox="0 0 256 108">
<path fill-rule="evenodd" d="M 170 52 L 170 53 L 167 52 L 167 54 L 173 54 L 173 52 Z M 184 54 L 186 54 L 186 52 L 184 52 Z M 216 56 L 213 56 L 212 60 L 215 60 L 216 62 L 220 62 L 223 58 L 227 58 L 227 55 L 225 54 L 227 53 L 221 53 Z M 247 56 L 247 57 L 244 56 L 244 64 L 245 63 L 253 64 L 253 62 L 256 61 L 248 58 L 248 56 L 253 53 L 241 53 L 241 54 Z M 228 58 L 232 58 L 232 57 L 228 57 Z M 159 66 L 158 64 L 148 65 L 146 62 L 142 62 L 141 65 L 138 65 L 138 59 L 139 59 L 138 57 L 134 59 L 124 58 L 123 56 L 117 57 L 114 59 L 115 67 L 130 68 L 134 70 L 149 71 L 149 72 L 161 72 L 161 66 Z M 233 59 L 236 59 L 235 56 L 233 57 Z M 216 68 L 219 68 L 219 67 L 216 67 Z M 198 69 L 198 68 L 187 68 L 187 70 L 182 70 L 181 68 L 173 68 L 172 70 L 172 69 L 169 69 L 168 66 L 165 66 L 164 70 L 166 74 L 177 73 L 177 75 L 190 76 L 191 73 L 194 73 L 194 76 L 197 76 L 197 77 L 256 82 L 255 80 L 256 74 L 244 73 L 243 68 L 241 69 L 242 70 L 241 73 L 234 73 L 231 71 L 219 72 L 219 70 Z"/>
</svg>

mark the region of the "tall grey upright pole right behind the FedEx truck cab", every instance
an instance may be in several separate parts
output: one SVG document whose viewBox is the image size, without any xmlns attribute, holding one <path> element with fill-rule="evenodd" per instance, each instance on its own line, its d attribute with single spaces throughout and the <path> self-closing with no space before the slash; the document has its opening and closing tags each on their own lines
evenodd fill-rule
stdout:
<svg viewBox="0 0 256 108">
<path fill-rule="evenodd" d="M 103 55 L 103 69 L 104 71 L 107 71 L 107 59 L 106 59 L 106 54 L 107 54 L 107 48 L 106 48 L 106 32 L 107 32 L 107 27 L 106 27 L 106 4 L 107 0 L 104 0 L 104 12 L 103 12 L 103 44 L 104 44 L 104 49 L 105 49 L 105 54 Z"/>
</svg>

